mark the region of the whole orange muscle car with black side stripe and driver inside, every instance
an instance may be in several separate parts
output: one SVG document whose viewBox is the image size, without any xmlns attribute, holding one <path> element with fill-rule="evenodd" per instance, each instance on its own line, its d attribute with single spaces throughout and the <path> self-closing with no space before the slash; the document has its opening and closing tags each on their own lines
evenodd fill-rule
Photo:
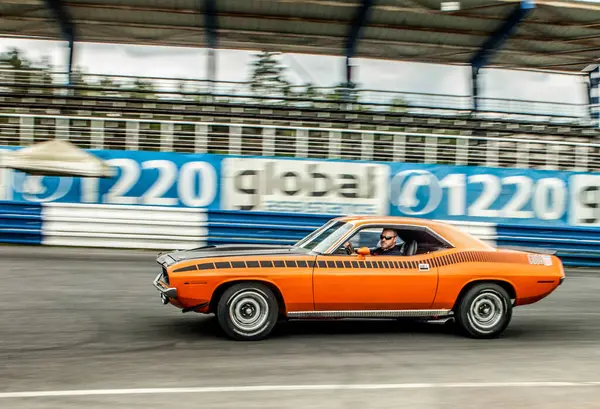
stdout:
<svg viewBox="0 0 600 409">
<path fill-rule="evenodd" d="M 355 250 L 356 249 L 356 250 Z M 161 253 L 164 304 L 214 313 L 237 340 L 265 338 L 279 320 L 453 319 L 496 337 L 512 308 L 564 280 L 553 254 L 496 249 L 446 223 L 340 217 L 291 246 L 222 245 Z"/>
</svg>

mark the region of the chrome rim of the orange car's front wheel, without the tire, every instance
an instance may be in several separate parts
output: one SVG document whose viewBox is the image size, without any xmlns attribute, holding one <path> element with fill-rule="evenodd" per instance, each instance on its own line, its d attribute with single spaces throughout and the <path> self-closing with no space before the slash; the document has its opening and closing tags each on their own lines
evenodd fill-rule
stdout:
<svg viewBox="0 0 600 409">
<path fill-rule="evenodd" d="M 242 290 L 231 297 L 229 318 L 236 332 L 250 336 L 259 333 L 269 318 L 269 303 L 261 292 Z"/>
</svg>

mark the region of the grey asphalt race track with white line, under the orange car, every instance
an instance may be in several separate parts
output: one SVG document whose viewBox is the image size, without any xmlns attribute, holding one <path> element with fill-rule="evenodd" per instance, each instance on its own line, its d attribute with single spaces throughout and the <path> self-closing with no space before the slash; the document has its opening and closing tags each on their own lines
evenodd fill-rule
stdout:
<svg viewBox="0 0 600 409">
<path fill-rule="evenodd" d="M 7 246 L 0 257 L 3 408 L 600 408 L 593 271 L 568 270 L 496 340 L 321 321 L 247 343 L 163 306 L 155 252 Z"/>
</svg>

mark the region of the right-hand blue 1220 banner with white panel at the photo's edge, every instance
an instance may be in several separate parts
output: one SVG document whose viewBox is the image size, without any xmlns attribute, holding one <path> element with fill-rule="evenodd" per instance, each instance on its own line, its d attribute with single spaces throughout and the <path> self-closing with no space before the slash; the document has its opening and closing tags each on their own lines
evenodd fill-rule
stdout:
<svg viewBox="0 0 600 409">
<path fill-rule="evenodd" d="M 390 214 L 394 216 L 600 226 L 597 175 L 409 163 L 390 166 Z"/>
</svg>

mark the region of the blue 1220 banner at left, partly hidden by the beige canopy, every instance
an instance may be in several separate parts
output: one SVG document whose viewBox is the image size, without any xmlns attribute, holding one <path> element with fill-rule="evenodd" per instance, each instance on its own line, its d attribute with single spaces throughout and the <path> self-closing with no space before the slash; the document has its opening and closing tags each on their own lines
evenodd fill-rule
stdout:
<svg viewBox="0 0 600 409">
<path fill-rule="evenodd" d="M 219 207 L 221 157 L 170 152 L 89 150 L 114 166 L 112 178 L 35 176 L 3 171 L 4 200 Z"/>
</svg>

